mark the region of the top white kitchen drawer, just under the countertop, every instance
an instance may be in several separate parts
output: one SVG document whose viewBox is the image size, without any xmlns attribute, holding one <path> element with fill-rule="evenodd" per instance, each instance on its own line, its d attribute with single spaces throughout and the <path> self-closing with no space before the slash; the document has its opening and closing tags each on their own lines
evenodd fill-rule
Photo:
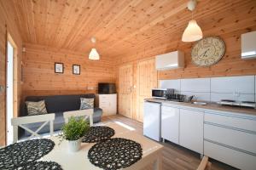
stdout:
<svg viewBox="0 0 256 170">
<path fill-rule="evenodd" d="M 205 113 L 205 122 L 212 122 L 227 127 L 236 127 L 248 131 L 256 132 L 256 119 L 238 117 L 232 115 L 222 115 L 218 113 Z"/>
</svg>

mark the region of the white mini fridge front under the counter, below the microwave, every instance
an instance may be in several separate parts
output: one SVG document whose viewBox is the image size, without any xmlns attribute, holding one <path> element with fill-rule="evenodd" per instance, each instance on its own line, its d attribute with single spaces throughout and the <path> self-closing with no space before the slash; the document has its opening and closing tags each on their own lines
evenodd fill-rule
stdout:
<svg viewBox="0 0 256 170">
<path fill-rule="evenodd" d="M 146 101 L 143 110 L 143 135 L 156 141 L 160 141 L 161 138 L 160 105 L 160 103 Z"/>
</svg>

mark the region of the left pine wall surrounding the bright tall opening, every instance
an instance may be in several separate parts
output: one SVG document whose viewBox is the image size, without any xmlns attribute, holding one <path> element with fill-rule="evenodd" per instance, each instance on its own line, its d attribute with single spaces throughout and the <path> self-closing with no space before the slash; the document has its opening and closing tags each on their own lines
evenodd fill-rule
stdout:
<svg viewBox="0 0 256 170">
<path fill-rule="evenodd" d="M 0 85 L 6 89 L 6 44 L 7 44 L 7 33 L 14 39 L 17 45 L 17 72 L 20 73 L 20 62 L 22 58 L 22 39 L 20 37 L 20 31 L 15 22 L 15 10 L 14 3 L 11 1 L 0 1 Z M 15 99 L 15 106 L 20 105 L 21 96 L 21 84 L 20 84 L 20 74 L 18 74 L 16 91 L 17 99 Z M 6 101 L 5 101 L 5 91 L 0 92 L 0 146 L 6 144 Z M 19 108 L 14 108 L 14 116 L 19 113 Z"/>
</svg>

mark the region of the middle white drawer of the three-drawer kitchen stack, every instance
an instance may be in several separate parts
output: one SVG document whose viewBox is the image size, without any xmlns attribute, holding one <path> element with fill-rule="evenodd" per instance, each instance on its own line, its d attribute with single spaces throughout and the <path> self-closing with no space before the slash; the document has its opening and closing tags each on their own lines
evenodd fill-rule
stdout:
<svg viewBox="0 0 256 170">
<path fill-rule="evenodd" d="M 204 139 L 226 144 L 256 155 L 256 134 L 204 124 Z"/>
</svg>

